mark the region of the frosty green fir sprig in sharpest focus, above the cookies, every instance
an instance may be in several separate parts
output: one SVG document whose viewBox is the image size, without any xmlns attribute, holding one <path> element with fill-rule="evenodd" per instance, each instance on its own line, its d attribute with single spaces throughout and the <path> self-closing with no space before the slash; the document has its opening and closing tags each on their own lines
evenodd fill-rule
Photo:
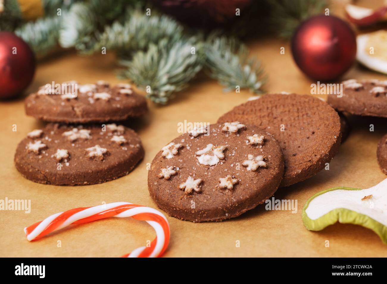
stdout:
<svg viewBox="0 0 387 284">
<path fill-rule="evenodd" d="M 192 54 L 192 47 L 196 54 Z M 194 38 L 173 44 L 167 40 L 158 45 L 150 44 L 146 52 L 135 53 L 132 60 L 120 61 L 126 69 L 119 76 L 143 89 L 150 87 L 147 97 L 155 103 L 166 104 L 202 69 L 202 48 L 203 44 Z"/>
</svg>

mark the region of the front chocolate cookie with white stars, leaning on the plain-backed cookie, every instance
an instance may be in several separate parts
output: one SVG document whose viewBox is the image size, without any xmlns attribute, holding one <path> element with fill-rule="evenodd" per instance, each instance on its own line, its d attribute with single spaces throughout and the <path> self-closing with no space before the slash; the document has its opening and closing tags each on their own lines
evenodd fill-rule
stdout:
<svg viewBox="0 0 387 284">
<path fill-rule="evenodd" d="M 283 172 L 281 148 L 271 135 L 227 122 L 194 129 L 164 146 L 152 161 L 148 189 L 173 217 L 222 221 L 271 197 Z"/>
</svg>

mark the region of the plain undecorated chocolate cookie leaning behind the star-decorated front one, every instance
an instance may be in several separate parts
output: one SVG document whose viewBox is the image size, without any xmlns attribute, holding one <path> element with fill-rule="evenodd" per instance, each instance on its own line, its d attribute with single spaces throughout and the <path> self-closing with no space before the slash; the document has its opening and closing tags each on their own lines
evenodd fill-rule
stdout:
<svg viewBox="0 0 387 284">
<path fill-rule="evenodd" d="M 255 124 L 277 139 L 285 162 L 280 186 L 295 184 L 318 173 L 336 155 L 341 141 L 337 112 L 310 95 L 262 95 L 218 119 L 226 121 Z"/>
</svg>

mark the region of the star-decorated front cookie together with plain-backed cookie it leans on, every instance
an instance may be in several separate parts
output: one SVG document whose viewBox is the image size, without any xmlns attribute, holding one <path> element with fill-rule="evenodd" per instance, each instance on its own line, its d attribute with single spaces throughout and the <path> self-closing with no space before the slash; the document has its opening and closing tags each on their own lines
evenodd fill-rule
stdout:
<svg viewBox="0 0 387 284">
<path fill-rule="evenodd" d="M 278 187 L 312 177 L 340 143 L 339 115 L 326 102 L 267 94 L 164 146 L 151 164 L 148 189 L 171 216 L 222 221 L 262 204 Z"/>
</svg>

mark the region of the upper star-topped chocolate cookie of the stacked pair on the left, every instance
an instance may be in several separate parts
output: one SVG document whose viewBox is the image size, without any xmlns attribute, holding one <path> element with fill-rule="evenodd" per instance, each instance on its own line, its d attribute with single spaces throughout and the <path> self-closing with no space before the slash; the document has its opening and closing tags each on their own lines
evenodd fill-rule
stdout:
<svg viewBox="0 0 387 284">
<path fill-rule="evenodd" d="M 129 84 L 80 85 L 75 81 L 47 84 L 25 100 L 26 114 L 51 122 L 86 123 L 121 121 L 147 112 L 146 100 Z"/>
</svg>

